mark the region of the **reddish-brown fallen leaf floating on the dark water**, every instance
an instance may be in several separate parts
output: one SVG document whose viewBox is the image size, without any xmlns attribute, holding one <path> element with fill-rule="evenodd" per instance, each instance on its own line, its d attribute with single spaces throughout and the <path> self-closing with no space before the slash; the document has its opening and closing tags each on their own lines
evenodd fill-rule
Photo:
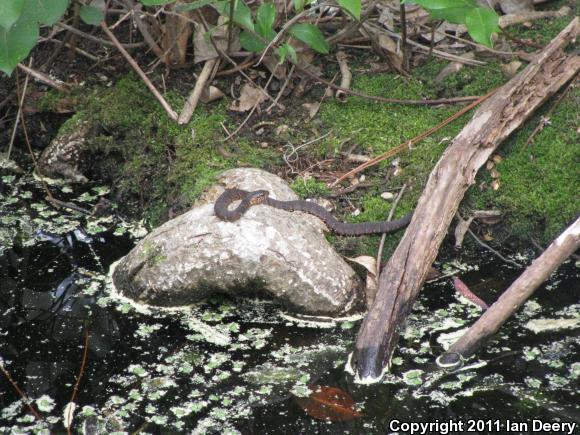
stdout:
<svg viewBox="0 0 580 435">
<path fill-rule="evenodd" d="M 350 421 L 362 416 L 356 410 L 353 398 L 335 387 L 312 385 L 309 397 L 297 397 L 296 401 L 311 417 L 319 420 Z"/>
</svg>

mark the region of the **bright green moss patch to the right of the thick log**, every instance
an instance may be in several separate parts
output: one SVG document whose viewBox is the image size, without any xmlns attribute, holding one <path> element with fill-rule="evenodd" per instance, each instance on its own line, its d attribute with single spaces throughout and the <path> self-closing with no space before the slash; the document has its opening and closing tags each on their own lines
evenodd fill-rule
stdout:
<svg viewBox="0 0 580 435">
<path fill-rule="evenodd" d="M 504 156 L 496 166 L 500 188 L 491 189 L 491 177 L 482 170 L 475 185 L 485 183 L 485 189 L 471 188 L 467 204 L 506 212 L 506 224 L 519 238 L 535 236 L 548 243 L 556 237 L 580 212 L 579 103 L 580 91 L 571 90 L 550 116 L 550 124 L 526 145 L 542 114 L 529 120 L 499 150 Z"/>
</svg>

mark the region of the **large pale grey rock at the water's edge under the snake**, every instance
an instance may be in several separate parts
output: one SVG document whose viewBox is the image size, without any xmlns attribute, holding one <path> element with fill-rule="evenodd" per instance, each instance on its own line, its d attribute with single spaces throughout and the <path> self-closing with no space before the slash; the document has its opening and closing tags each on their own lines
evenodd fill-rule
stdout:
<svg viewBox="0 0 580 435">
<path fill-rule="evenodd" d="M 282 179 L 265 171 L 225 172 L 205 203 L 154 230 L 119 262 L 113 274 L 117 290 L 161 306 L 259 288 L 304 314 L 337 316 L 361 307 L 362 282 L 328 244 L 319 219 L 259 205 L 236 222 L 223 222 L 213 203 L 224 186 L 297 199 Z"/>
</svg>

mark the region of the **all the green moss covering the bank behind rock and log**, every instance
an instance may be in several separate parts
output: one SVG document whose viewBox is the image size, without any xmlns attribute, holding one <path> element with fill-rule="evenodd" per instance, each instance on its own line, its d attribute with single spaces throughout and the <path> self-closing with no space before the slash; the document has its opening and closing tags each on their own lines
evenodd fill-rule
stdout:
<svg viewBox="0 0 580 435">
<path fill-rule="evenodd" d="M 512 33 L 517 37 L 534 38 L 541 34 L 547 41 L 568 21 L 545 20 L 534 23 L 532 29 L 519 27 Z M 430 60 L 415 68 L 410 78 L 403 78 L 395 74 L 360 73 L 366 68 L 368 59 L 357 56 L 358 53 L 351 56 L 353 70 L 358 71 L 353 88 L 367 94 L 403 99 L 482 95 L 506 81 L 499 62 L 489 62 L 483 68 L 465 66 L 437 84 L 433 79 L 447 64 L 444 61 Z M 166 97 L 173 107 L 182 106 L 183 97 L 177 93 L 169 92 Z M 509 231 L 518 239 L 533 234 L 546 242 L 557 235 L 578 213 L 578 99 L 577 90 L 570 92 L 551 115 L 551 124 L 536 136 L 533 145 L 526 146 L 524 143 L 540 115 L 530 119 L 498 150 L 503 156 L 496 168 L 500 172 L 500 188 L 494 191 L 489 187 L 489 174 L 482 169 L 476 187 L 468 191 L 462 206 L 507 212 Z M 112 88 L 95 89 L 85 98 L 83 114 L 77 117 L 91 119 L 100 126 L 92 143 L 93 150 L 101 157 L 96 159 L 96 164 L 115 184 L 119 200 L 130 199 L 140 205 L 148 222 L 157 225 L 167 219 L 169 209 L 180 212 L 189 207 L 225 169 L 254 166 L 284 172 L 287 168 L 283 153 L 288 143 L 297 146 L 330 132 L 324 139 L 301 149 L 300 157 L 310 162 L 334 159 L 331 169 L 341 172 L 352 165 L 346 164 L 339 153 L 351 145 L 356 144 L 354 153 L 375 156 L 459 110 L 457 106 L 383 104 L 349 97 L 344 104 L 325 100 L 317 118 L 308 122 L 299 103 L 295 103 L 291 115 L 273 119 L 276 125 L 290 127 L 267 137 L 270 146 L 260 146 L 259 141 L 264 138 L 257 138 L 248 129 L 229 140 L 225 145 L 234 150 L 234 157 L 224 157 L 218 152 L 218 144 L 225 137 L 221 124 L 231 127 L 231 131 L 242 119 L 231 117 L 227 102 L 200 106 L 187 125 L 178 126 L 167 118 L 147 89 L 133 76 L 122 78 Z M 432 167 L 470 116 L 464 115 L 413 149 L 400 153 L 396 175 L 392 173 L 392 159 L 366 170 L 365 182 L 370 183 L 370 187 L 350 194 L 349 204 L 339 202 L 337 215 L 352 222 L 384 219 L 391 203 L 382 199 L 380 193 L 396 191 L 403 185 L 407 188 L 394 217 L 413 209 Z M 324 196 L 328 188 L 324 181 L 316 179 L 321 172 L 324 170 L 309 171 L 310 178 L 298 176 L 288 181 L 303 198 Z M 477 187 L 482 185 L 486 188 Z M 343 206 L 351 204 L 360 214 L 341 212 L 347 209 Z M 388 237 L 387 255 L 399 237 Z M 347 254 L 373 254 L 378 240 L 377 237 L 332 236 L 331 239 Z"/>
</svg>

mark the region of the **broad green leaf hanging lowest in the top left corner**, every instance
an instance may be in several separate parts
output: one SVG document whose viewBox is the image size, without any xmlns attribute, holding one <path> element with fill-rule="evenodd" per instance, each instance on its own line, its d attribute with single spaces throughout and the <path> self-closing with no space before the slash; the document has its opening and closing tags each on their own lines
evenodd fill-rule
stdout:
<svg viewBox="0 0 580 435">
<path fill-rule="evenodd" d="M 21 16 L 9 30 L 0 27 L 0 71 L 10 75 L 37 40 L 38 23 L 30 16 Z"/>
</svg>

